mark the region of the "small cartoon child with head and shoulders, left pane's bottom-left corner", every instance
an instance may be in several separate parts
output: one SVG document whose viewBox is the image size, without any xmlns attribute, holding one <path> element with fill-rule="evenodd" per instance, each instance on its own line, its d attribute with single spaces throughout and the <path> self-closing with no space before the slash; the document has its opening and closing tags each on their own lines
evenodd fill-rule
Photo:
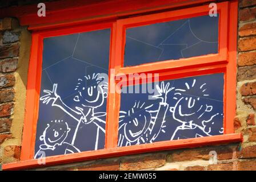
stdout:
<svg viewBox="0 0 256 182">
<path fill-rule="evenodd" d="M 37 151 L 34 158 L 38 159 L 43 157 L 41 156 L 42 151 L 45 152 L 46 156 L 80 152 L 79 149 L 72 144 L 64 142 L 69 134 L 69 131 L 70 128 L 67 125 L 67 122 L 55 120 L 48 123 L 40 137 L 43 144 L 39 146 L 40 149 Z"/>
</svg>

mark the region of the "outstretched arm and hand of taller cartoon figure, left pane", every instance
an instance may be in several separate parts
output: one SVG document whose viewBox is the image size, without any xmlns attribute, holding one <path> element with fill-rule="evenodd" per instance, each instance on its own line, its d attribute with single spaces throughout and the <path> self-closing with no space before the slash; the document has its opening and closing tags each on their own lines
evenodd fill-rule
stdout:
<svg viewBox="0 0 256 182">
<path fill-rule="evenodd" d="M 43 101 L 43 104 L 46 104 L 46 105 L 49 104 L 51 101 L 53 101 L 51 106 L 59 107 L 63 111 L 65 111 L 65 113 L 69 114 L 72 118 L 74 118 L 76 121 L 78 122 L 81 121 L 82 113 L 80 113 L 79 111 L 75 111 L 71 109 L 69 106 L 67 106 L 66 104 L 64 104 L 64 102 L 61 100 L 61 97 L 56 92 L 57 86 L 58 84 L 53 84 L 52 91 L 43 90 L 43 92 L 46 93 L 46 95 L 42 96 L 40 100 Z"/>
</svg>

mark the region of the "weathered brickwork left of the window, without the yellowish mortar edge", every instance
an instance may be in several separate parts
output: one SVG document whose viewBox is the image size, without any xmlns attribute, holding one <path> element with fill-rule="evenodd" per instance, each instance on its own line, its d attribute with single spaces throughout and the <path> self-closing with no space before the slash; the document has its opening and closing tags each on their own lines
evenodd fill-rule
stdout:
<svg viewBox="0 0 256 182">
<path fill-rule="evenodd" d="M 15 106 L 15 71 L 18 67 L 19 36 L 14 30 L 13 18 L 0 19 L 0 144 L 13 138 L 11 126 Z M 16 145 L 0 147 L 0 162 L 19 160 L 21 147 Z"/>
</svg>

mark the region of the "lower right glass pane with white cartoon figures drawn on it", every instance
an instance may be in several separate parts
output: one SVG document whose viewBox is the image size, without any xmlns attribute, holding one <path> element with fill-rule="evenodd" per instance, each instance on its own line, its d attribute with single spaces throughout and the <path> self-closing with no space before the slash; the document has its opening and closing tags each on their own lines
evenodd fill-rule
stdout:
<svg viewBox="0 0 256 182">
<path fill-rule="evenodd" d="M 122 88 L 118 146 L 223 134 L 223 73 L 165 80 L 138 90 L 145 88 L 146 93 Z"/>
</svg>

